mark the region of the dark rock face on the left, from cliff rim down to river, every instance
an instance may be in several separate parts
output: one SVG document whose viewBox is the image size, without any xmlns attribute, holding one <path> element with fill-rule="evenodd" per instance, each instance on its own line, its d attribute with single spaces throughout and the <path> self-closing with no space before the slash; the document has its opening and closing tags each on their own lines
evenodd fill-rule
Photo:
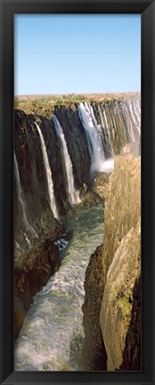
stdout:
<svg viewBox="0 0 155 385">
<path fill-rule="evenodd" d="M 69 111 L 61 111 L 63 119 L 66 119 L 66 112 Z M 78 131 L 81 130 L 81 124 L 76 121 L 77 116 L 71 116 L 70 119 L 73 127 L 74 124 L 75 127 L 78 124 L 76 127 L 77 141 L 72 148 L 72 158 L 74 158 L 74 173 L 77 175 L 75 182 L 79 188 L 84 181 L 89 184 L 90 163 L 85 141 L 84 146 L 79 145 L 81 138 L 78 138 Z M 27 116 L 24 112 L 15 110 L 14 145 L 20 175 L 20 188 L 22 189 L 21 198 L 24 205 L 22 208 L 16 174 L 14 178 L 15 338 L 29 309 L 32 296 L 59 268 L 60 256 L 53 243 L 60 237 L 64 237 L 65 231 L 61 222 L 53 218 L 48 203 L 44 159 L 34 121 L 37 122 L 44 136 L 53 175 L 54 196 L 60 216 L 69 212 L 70 209 L 61 162 L 61 148 L 53 121 L 49 121 L 44 116 Z M 69 133 L 66 132 L 68 140 L 70 140 Z M 80 156 L 83 156 L 82 160 Z M 85 167 L 82 168 L 84 158 Z M 17 170 L 15 172 L 17 173 Z M 23 210 L 26 220 L 24 220 Z M 52 244 L 50 244 L 51 242 Z"/>
</svg>

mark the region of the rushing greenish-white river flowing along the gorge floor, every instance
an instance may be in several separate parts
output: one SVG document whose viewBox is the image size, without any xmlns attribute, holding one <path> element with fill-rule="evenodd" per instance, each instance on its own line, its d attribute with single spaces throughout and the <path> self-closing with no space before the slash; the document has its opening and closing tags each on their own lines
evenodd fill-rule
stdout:
<svg viewBox="0 0 155 385">
<path fill-rule="evenodd" d="M 16 371 L 77 371 L 84 340 L 82 304 L 91 253 L 103 241 L 103 207 L 79 210 L 69 220 L 73 237 L 61 267 L 34 297 L 15 342 Z"/>
</svg>

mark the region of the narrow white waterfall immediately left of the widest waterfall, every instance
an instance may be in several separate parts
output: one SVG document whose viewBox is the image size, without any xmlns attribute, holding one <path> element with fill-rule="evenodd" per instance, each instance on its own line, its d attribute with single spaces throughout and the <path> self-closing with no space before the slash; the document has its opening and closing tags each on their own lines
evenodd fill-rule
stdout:
<svg viewBox="0 0 155 385">
<path fill-rule="evenodd" d="M 59 120 L 57 116 L 53 115 L 53 123 L 55 126 L 55 130 L 58 135 L 58 139 L 61 145 L 61 156 L 63 160 L 63 169 L 66 176 L 66 183 L 67 183 L 67 190 L 68 190 L 68 197 L 69 197 L 69 203 L 70 205 L 77 205 L 81 202 L 79 198 L 79 194 L 74 187 L 74 176 L 73 176 L 73 170 L 72 170 L 72 163 L 69 156 L 69 151 L 67 147 L 67 143 L 65 140 L 64 133 L 61 128 L 61 124 L 59 123 Z"/>
</svg>

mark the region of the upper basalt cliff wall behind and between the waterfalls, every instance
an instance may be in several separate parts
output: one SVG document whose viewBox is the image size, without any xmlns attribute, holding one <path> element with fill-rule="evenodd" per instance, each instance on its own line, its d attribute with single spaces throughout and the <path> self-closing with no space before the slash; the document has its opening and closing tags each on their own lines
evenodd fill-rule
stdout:
<svg viewBox="0 0 155 385">
<path fill-rule="evenodd" d="M 105 158 L 118 155 L 126 142 L 140 140 L 140 100 L 118 100 L 108 102 L 81 103 L 93 110 L 87 115 L 87 124 L 102 140 L 102 153 Z M 28 220 L 35 221 L 49 209 L 45 165 L 36 122 L 44 136 L 45 148 L 53 176 L 53 192 L 60 216 L 69 209 L 64 159 L 61 156 L 61 144 L 53 124 L 53 114 L 57 116 L 64 134 L 73 169 L 74 186 L 80 189 L 85 183 L 90 188 L 91 158 L 86 138 L 86 130 L 78 114 L 78 105 L 72 108 L 55 106 L 51 120 L 45 116 L 26 115 L 23 111 L 14 111 L 14 148 L 19 168 L 20 186 Z M 92 144 L 91 144 L 92 145 Z M 22 225 L 22 213 L 19 205 L 17 178 L 14 178 L 14 216 L 15 233 L 19 234 Z M 52 213 L 53 215 L 53 213 Z M 17 221 L 16 221 L 17 218 Z M 40 225 L 41 226 L 41 225 Z M 43 227 L 41 226 L 41 229 Z M 17 231 L 16 231 L 17 229 Z"/>
</svg>

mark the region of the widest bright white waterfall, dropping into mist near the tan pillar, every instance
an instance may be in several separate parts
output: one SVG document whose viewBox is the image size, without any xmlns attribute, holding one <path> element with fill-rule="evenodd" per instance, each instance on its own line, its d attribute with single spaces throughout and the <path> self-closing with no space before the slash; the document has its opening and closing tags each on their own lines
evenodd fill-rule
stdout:
<svg viewBox="0 0 155 385">
<path fill-rule="evenodd" d="M 91 170 L 103 171 L 105 156 L 102 148 L 101 133 L 95 120 L 90 103 L 80 103 L 77 106 L 78 116 L 86 132 L 89 154 L 91 156 Z"/>
</svg>

